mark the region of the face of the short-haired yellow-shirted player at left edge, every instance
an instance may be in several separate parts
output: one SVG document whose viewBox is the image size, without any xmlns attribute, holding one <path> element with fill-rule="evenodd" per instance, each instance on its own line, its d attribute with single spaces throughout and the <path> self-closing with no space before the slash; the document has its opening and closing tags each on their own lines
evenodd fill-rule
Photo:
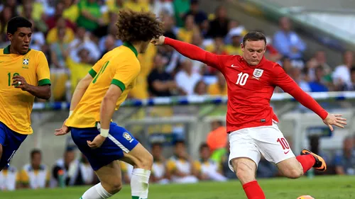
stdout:
<svg viewBox="0 0 355 199">
<path fill-rule="evenodd" d="M 15 53 L 26 54 L 30 47 L 32 31 L 31 28 L 17 28 L 17 31 L 12 35 L 8 34 L 11 46 Z"/>
</svg>

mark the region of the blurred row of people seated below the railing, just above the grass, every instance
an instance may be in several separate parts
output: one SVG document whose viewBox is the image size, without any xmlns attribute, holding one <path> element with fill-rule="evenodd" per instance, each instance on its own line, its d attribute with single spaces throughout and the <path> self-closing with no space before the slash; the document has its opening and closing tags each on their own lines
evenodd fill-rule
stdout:
<svg viewBox="0 0 355 199">
<path fill-rule="evenodd" d="M 229 140 L 226 127 L 219 120 L 212 121 L 211 132 L 204 143 L 200 144 L 199 157 L 193 159 L 187 152 L 184 140 L 172 144 L 152 142 L 148 147 L 153 154 L 151 183 L 197 183 L 199 181 L 229 181 L 236 175 L 229 169 Z M 327 161 L 325 174 L 355 175 L 355 137 L 345 137 L 343 149 L 332 154 L 323 152 L 319 147 L 320 137 L 310 137 L 310 149 Z M 288 138 L 292 147 L 292 140 Z M 87 159 L 75 146 L 68 145 L 63 157 L 53 166 L 42 163 L 42 152 L 33 149 L 29 162 L 22 168 L 10 166 L 0 172 L 0 190 L 13 191 L 21 188 L 55 188 L 67 186 L 94 185 L 97 176 Z M 122 181 L 129 184 L 133 166 L 120 161 Z M 309 171 L 310 172 L 310 171 Z M 312 175 L 324 174 L 313 173 Z M 308 175 L 308 174 L 306 174 Z M 275 164 L 263 157 L 258 164 L 257 178 L 281 176 Z M 309 175 L 310 176 L 310 175 Z"/>
</svg>

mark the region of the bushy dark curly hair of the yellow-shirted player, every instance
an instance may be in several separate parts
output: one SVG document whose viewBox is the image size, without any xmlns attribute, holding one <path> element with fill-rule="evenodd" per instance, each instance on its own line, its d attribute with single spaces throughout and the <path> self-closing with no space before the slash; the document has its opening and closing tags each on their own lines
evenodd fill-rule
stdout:
<svg viewBox="0 0 355 199">
<path fill-rule="evenodd" d="M 146 42 L 163 35 L 163 23 L 147 11 L 121 9 L 116 26 L 116 37 L 123 42 Z"/>
</svg>

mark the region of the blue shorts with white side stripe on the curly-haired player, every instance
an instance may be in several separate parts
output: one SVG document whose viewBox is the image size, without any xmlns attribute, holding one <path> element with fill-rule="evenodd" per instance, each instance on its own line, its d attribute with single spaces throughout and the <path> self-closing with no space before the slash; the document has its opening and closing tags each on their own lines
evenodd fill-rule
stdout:
<svg viewBox="0 0 355 199">
<path fill-rule="evenodd" d="M 124 152 L 129 153 L 139 143 L 130 132 L 124 127 L 116 125 L 116 123 L 110 124 L 109 136 L 97 149 L 92 149 L 87 145 L 87 140 L 92 141 L 100 134 L 97 127 L 72 127 L 71 132 L 72 140 L 87 157 L 94 171 L 110 164 L 112 161 L 121 159 L 124 157 Z"/>
</svg>

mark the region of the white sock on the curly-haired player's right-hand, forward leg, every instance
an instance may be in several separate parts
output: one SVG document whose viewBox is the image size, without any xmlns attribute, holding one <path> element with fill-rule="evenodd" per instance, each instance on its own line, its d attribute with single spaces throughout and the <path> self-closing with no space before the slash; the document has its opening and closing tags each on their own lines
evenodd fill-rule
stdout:
<svg viewBox="0 0 355 199">
<path fill-rule="evenodd" d="M 133 169 L 132 178 L 131 178 L 132 199 L 148 198 L 148 187 L 149 187 L 150 176 L 151 176 L 151 171 L 149 170 Z"/>
</svg>

